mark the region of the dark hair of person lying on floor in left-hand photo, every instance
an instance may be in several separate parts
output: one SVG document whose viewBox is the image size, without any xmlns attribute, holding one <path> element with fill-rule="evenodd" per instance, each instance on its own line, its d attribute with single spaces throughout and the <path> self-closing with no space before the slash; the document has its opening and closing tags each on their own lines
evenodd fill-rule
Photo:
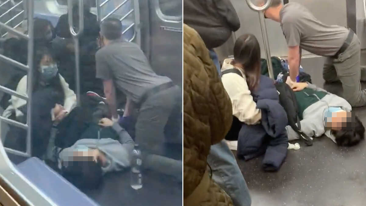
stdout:
<svg viewBox="0 0 366 206">
<path fill-rule="evenodd" d="M 62 176 L 80 190 L 93 190 L 102 183 L 102 166 L 94 161 L 63 162 Z"/>
</svg>

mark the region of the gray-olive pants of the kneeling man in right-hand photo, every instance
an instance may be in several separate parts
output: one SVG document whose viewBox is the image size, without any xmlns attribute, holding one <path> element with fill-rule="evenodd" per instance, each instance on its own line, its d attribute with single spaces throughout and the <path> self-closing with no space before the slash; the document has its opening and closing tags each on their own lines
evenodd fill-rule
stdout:
<svg viewBox="0 0 366 206">
<path fill-rule="evenodd" d="M 341 81 L 343 98 L 352 106 L 366 106 L 366 90 L 361 90 L 361 82 L 366 81 L 366 72 L 362 70 L 360 41 L 356 34 L 350 45 L 337 59 L 326 57 L 323 78 L 326 82 Z"/>
</svg>

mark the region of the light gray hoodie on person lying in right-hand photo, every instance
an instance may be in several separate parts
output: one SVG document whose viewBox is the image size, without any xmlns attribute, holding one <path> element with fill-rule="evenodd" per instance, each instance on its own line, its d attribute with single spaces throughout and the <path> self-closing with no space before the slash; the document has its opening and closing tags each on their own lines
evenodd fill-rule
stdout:
<svg viewBox="0 0 366 206">
<path fill-rule="evenodd" d="M 315 91 L 327 92 L 310 83 L 308 88 Z M 335 137 L 331 135 L 330 130 L 325 130 L 325 111 L 329 107 L 341 107 L 344 111 L 350 112 L 352 107 L 345 99 L 335 94 L 327 93 L 328 94 L 325 95 L 324 98 L 320 99 L 320 101 L 311 104 L 305 109 L 303 113 L 303 120 L 300 121 L 301 130 L 309 137 L 320 137 L 325 135 L 336 142 Z M 299 139 L 299 135 L 291 128 L 291 126 L 286 126 L 286 129 L 288 140 Z"/>
</svg>

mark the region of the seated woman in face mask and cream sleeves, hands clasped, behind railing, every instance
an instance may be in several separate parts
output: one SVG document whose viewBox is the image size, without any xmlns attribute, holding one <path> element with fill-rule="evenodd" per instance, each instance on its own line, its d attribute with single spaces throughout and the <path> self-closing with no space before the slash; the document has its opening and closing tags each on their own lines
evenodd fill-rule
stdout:
<svg viewBox="0 0 366 206">
<path fill-rule="evenodd" d="M 36 47 L 32 79 L 32 156 L 42 158 L 53 125 L 62 121 L 76 106 L 76 95 L 58 73 L 57 65 L 48 48 Z M 18 83 L 16 92 L 27 94 L 27 75 Z M 26 123 L 27 101 L 11 97 L 3 117 Z M 10 127 L 4 146 L 19 151 L 26 148 L 26 130 Z"/>
</svg>

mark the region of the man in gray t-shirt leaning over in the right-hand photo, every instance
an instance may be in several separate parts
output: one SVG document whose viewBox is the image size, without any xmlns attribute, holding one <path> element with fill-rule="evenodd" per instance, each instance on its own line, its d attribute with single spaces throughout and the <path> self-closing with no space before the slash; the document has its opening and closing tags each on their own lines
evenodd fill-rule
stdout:
<svg viewBox="0 0 366 206">
<path fill-rule="evenodd" d="M 263 4 L 263 3 L 262 3 Z M 320 22 L 299 3 L 282 4 L 272 0 L 266 18 L 281 23 L 288 46 L 290 78 L 299 74 L 301 49 L 324 56 L 323 78 L 326 82 L 341 81 L 343 96 L 352 106 L 366 106 L 366 91 L 361 90 L 360 43 L 352 30 Z"/>
</svg>

